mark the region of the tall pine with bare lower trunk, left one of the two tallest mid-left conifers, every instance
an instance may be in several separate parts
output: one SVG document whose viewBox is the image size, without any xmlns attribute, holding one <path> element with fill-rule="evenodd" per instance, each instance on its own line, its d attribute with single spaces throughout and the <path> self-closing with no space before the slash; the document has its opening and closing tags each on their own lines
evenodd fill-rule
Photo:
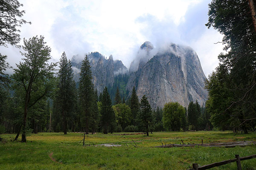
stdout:
<svg viewBox="0 0 256 170">
<path fill-rule="evenodd" d="M 63 119 L 63 132 L 67 134 L 67 117 L 74 109 L 75 83 L 73 80 L 73 69 L 70 60 L 67 60 L 65 52 L 63 52 L 60 59 L 60 69 L 58 71 L 58 91 L 57 101 L 59 111 Z"/>
</svg>

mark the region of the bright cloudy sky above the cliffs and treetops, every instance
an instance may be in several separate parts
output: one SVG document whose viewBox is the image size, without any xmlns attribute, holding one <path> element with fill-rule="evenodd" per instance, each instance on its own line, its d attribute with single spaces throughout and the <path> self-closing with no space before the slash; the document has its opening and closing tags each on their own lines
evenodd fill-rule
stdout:
<svg viewBox="0 0 256 170">
<path fill-rule="evenodd" d="M 222 35 L 208 29 L 210 0 L 19 0 L 23 19 L 32 22 L 20 27 L 23 38 L 43 35 L 52 49 L 53 62 L 65 51 L 68 59 L 98 51 L 113 55 L 129 68 L 140 45 L 150 41 L 154 47 L 167 43 L 193 48 L 208 77 L 218 65 L 223 51 Z M 0 53 L 15 68 L 21 61 L 20 48 L 1 46 Z M 10 70 L 9 70 L 10 71 Z"/>
</svg>

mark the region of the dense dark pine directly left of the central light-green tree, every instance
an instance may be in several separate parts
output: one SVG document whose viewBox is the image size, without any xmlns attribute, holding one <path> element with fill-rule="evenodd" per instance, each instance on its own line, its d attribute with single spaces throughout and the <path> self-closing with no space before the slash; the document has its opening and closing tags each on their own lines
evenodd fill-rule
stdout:
<svg viewBox="0 0 256 170">
<path fill-rule="evenodd" d="M 108 94 L 108 88 L 105 87 L 102 92 L 102 100 L 101 100 L 101 125 L 103 127 L 103 133 L 107 134 L 108 130 L 113 130 L 111 126 L 113 126 L 115 122 L 115 115 L 112 108 L 112 102 L 110 95 Z"/>
</svg>

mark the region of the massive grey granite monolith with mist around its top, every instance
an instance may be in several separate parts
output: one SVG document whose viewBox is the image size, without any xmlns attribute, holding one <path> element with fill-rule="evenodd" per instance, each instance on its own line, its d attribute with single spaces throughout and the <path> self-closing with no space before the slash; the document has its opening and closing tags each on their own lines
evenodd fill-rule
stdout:
<svg viewBox="0 0 256 170">
<path fill-rule="evenodd" d="M 200 105 L 205 103 L 208 96 L 204 89 L 206 77 L 195 51 L 170 44 L 160 48 L 151 58 L 153 48 L 148 48 L 148 44 L 144 43 L 140 48 L 146 55 L 142 57 L 144 60 L 137 56 L 140 58 L 138 69 L 130 71 L 127 90 L 131 92 L 134 86 L 139 99 L 146 95 L 152 108 L 163 108 L 167 102 L 179 102 L 186 107 L 190 101 L 198 100 Z M 145 62 L 145 58 L 151 59 Z"/>
</svg>

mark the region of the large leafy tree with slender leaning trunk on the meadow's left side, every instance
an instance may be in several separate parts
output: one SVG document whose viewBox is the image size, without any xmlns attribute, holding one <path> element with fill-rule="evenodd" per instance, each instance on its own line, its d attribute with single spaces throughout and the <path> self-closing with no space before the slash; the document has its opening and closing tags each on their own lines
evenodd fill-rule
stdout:
<svg viewBox="0 0 256 170">
<path fill-rule="evenodd" d="M 38 101 L 46 99 L 53 92 L 55 79 L 53 78 L 55 63 L 48 64 L 51 49 L 45 45 L 44 37 L 32 37 L 23 41 L 21 54 L 25 57 L 14 69 L 13 88 L 20 105 L 23 105 L 23 132 L 26 131 L 28 109 Z M 26 133 L 22 134 L 22 142 L 26 142 Z"/>
</svg>

